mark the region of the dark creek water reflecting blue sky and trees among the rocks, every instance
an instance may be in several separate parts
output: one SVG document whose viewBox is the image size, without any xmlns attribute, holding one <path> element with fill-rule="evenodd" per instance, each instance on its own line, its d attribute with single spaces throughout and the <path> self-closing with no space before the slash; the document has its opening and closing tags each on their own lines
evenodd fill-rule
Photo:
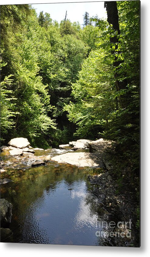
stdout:
<svg viewBox="0 0 150 257">
<path fill-rule="evenodd" d="M 49 149 L 46 154 L 67 151 L 71 150 Z M 1 179 L 13 182 L 1 186 L 1 198 L 12 203 L 13 236 L 6 242 L 109 245 L 107 236 L 96 236 L 101 230 L 97 221 L 107 220 L 107 213 L 90 193 L 88 174 L 95 170 L 55 162 L 31 168 L 28 158 L 22 168 L 11 169 L 11 159 L 7 162 L 10 168 Z"/>
</svg>

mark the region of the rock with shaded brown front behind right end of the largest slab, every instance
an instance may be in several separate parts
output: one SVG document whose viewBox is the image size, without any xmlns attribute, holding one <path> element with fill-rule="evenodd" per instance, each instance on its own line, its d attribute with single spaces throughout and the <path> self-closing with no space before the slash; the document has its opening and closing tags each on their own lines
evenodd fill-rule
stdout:
<svg viewBox="0 0 150 257">
<path fill-rule="evenodd" d="M 112 141 L 104 140 L 103 138 L 89 143 L 90 152 L 104 152 L 108 146 L 111 146 Z"/>
</svg>

